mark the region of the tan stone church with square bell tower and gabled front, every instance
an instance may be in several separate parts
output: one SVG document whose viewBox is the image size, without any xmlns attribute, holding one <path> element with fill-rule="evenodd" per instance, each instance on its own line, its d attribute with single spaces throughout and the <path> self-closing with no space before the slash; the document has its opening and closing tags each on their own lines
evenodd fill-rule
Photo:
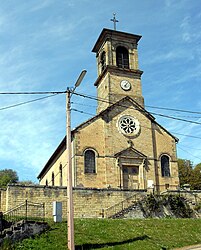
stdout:
<svg viewBox="0 0 201 250">
<path fill-rule="evenodd" d="M 153 190 L 179 187 L 178 139 L 145 109 L 138 65 L 141 36 L 103 29 L 97 59 L 97 114 L 71 132 L 73 187 Z M 40 185 L 67 185 L 66 137 L 38 175 Z"/>
</svg>

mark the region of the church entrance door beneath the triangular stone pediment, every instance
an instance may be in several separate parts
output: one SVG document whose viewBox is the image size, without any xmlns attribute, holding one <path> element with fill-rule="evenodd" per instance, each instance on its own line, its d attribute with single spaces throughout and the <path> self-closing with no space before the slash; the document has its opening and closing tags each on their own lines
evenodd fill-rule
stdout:
<svg viewBox="0 0 201 250">
<path fill-rule="evenodd" d="M 138 189 L 139 167 L 123 166 L 123 188 Z"/>
</svg>

